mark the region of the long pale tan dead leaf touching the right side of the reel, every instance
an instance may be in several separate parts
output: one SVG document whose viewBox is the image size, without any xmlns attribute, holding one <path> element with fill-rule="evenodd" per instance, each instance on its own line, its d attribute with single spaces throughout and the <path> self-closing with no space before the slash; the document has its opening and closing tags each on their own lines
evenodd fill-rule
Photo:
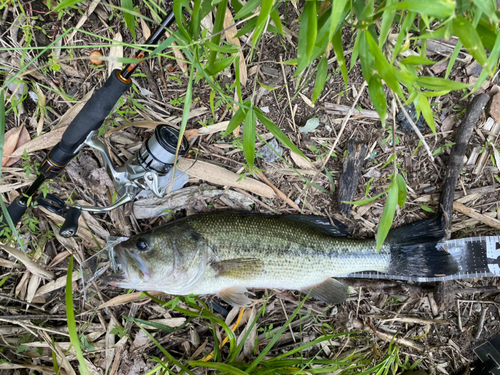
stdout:
<svg viewBox="0 0 500 375">
<path fill-rule="evenodd" d="M 251 191 L 261 197 L 276 198 L 276 194 L 269 186 L 253 178 L 242 178 L 241 175 L 228 171 L 225 168 L 204 162 L 185 158 L 179 158 L 177 168 L 187 173 L 190 177 L 196 177 L 212 184 L 237 187 Z"/>
</svg>

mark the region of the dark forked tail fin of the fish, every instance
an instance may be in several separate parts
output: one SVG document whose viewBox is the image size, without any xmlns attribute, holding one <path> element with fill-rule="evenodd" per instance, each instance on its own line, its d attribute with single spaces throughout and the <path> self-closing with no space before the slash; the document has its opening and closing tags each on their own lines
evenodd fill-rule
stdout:
<svg viewBox="0 0 500 375">
<path fill-rule="evenodd" d="M 391 245 L 389 273 L 433 277 L 458 272 L 455 259 L 438 242 L 445 236 L 442 214 L 393 229 L 387 235 Z"/>
</svg>

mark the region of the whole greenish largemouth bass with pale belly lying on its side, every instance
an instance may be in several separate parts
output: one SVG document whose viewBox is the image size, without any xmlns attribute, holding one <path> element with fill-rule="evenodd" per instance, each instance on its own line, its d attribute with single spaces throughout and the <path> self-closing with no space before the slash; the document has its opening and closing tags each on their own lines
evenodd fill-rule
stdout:
<svg viewBox="0 0 500 375">
<path fill-rule="evenodd" d="M 393 229 L 382 249 L 346 236 L 343 224 L 317 216 L 202 214 L 133 236 L 112 250 L 119 272 L 110 284 L 174 295 L 216 294 L 233 306 L 251 303 L 247 288 L 294 289 L 329 303 L 347 298 L 332 279 L 352 272 L 412 276 L 458 271 L 437 242 L 441 217 Z"/>
</svg>

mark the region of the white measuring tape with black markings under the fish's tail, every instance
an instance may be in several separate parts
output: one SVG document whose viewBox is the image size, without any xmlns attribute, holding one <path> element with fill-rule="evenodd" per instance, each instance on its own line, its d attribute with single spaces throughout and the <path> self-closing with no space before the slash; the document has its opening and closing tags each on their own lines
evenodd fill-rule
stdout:
<svg viewBox="0 0 500 375">
<path fill-rule="evenodd" d="M 356 272 L 343 277 L 409 280 L 418 282 L 500 276 L 500 236 L 471 237 L 439 242 L 458 263 L 459 272 L 447 276 L 415 277 L 382 272 Z"/>
</svg>

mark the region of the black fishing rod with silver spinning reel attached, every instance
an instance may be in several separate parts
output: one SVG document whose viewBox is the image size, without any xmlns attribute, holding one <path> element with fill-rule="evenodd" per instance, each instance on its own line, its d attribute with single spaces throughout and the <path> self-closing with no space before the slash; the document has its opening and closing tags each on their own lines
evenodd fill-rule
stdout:
<svg viewBox="0 0 500 375">
<path fill-rule="evenodd" d="M 170 12 L 161 25 L 146 41 L 146 47 L 138 51 L 135 59 L 144 59 L 153 46 L 163 36 L 167 28 L 174 22 L 174 12 Z M 166 188 L 161 187 L 161 177 L 170 171 L 175 162 L 179 131 L 169 125 L 156 127 L 154 135 L 146 140 L 137 154 L 129 159 L 123 167 L 115 167 L 111 161 L 106 146 L 93 137 L 101 127 L 105 118 L 111 113 L 118 99 L 132 86 L 132 75 L 142 65 L 144 60 L 128 64 L 123 69 L 115 69 L 104 85 L 99 89 L 64 132 L 61 141 L 50 150 L 39 168 L 39 174 L 33 184 L 10 204 L 8 214 L 14 226 L 26 212 L 29 202 L 37 194 L 42 184 L 57 176 L 64 167 L 88 145 L 98 150 L 110 175 L 117 193 L 121 196 L 115 203 L 107 207 L 91 207 L 73 205 L 66 208 L 64 201 L 53 194 L 39 197 L 37 204 L 65 218 L 60 234 L 71 237 L 78 230 L 78 218 L 82 211 L 108 212 L 127 202 L 131 202 L 139 191 L 151 190 L 156 196 L 162 197 Z M 184 155 L 189 148 L 186 138 L 182 138 L 179 155 Z M 163 180 L 164 182 L 164 180 Z M 7 215 L 0 222 L 0 232 L 8 227 Z"/>
</svg>

